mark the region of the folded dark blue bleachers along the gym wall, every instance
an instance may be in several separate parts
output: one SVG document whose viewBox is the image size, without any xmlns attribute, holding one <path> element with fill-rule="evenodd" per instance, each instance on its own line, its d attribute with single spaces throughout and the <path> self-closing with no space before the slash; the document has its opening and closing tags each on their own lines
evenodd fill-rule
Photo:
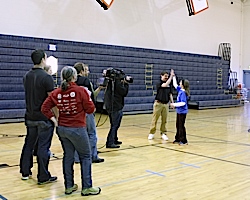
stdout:
<svg viewBox="0 0 250 200">
<path fill-rule="evenodd" d="M 49 51 L 49 44 L 56 51 Z M 124 111 L 152 112 L 153 90 L 145 82 L 145 65 L 152 64 L 151 85 L 160 79 L 162 70 L 173 68 L 178 77 L 190 81 L 190 105 L 198 109 L 240 105 L 238 99 L 224 94 L 228 87 L 229 62 L 218 56 L 171 52 L 155 49 L 93 44 L 53 39 L 0 35 L 0 120 L 20 120 L 24 117 L 25 102 L 23 75 L 33 66 L 30 55 L 34 49 L 44 49 L 48 56 L 58 58 L 59 70 L 76 62 L 89 64 L 92 82 L 102 77 L 109 67 L 122 69 L 134 77 Z M 218 69 L 222 70 L 222 87 L 218 89 Z M 102 101 L 103 92 L 98 97 Z"/>
</svg>

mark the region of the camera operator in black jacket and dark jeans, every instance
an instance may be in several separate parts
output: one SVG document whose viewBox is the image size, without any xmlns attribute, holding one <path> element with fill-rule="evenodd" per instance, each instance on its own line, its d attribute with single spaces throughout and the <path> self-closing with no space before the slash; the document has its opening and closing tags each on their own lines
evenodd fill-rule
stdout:
<svg viewBox="0 0 250 200">
<path fill-rule="evenodd" d="M 116 71 L 114 73 L 117 73 Z M 123 74 L 124 75 L 124 74 Z M 110 130 L 107 137 L 106 148 L 120 148 L 117 131 L 120 127 L 124 107 L 124 97 L 128 94 L 129 84 L 126 77 L 115 74 L 113 78 L 105 78 L 107 83 L 104 95 L 104 105 L 109 115 Z"/>
</svg>

